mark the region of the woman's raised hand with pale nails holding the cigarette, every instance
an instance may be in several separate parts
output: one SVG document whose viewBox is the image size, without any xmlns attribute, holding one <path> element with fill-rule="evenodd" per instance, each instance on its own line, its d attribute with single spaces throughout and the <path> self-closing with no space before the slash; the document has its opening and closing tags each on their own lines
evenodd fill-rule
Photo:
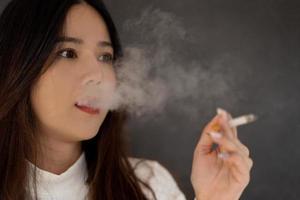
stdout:
<svg viewBox="0 0 300 200">
<path fill-rule="evenodd" d="M 197 200 L 238 200 L 250 181 L 249 150 L 238 139 L 237 129 L 230 127 L 231 115 L 222 109 L 218 113 L 194 151 L 191 182 Z M 212 150 L 214 143 L 218 147 Z"/>
</svg>

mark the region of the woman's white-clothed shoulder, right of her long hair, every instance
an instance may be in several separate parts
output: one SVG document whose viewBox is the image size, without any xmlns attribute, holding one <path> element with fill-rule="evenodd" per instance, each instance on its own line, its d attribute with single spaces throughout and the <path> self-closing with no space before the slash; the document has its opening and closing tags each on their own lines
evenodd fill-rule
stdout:
<svg viewBox="0 0 300 200">
<path fill-rule="evenodd" d="M 158 161 L 134 157 L 129 157 L 128 160 L 136 176 L 152 188 L 157 200 L 186 199 L 174 177 Z M 142 189 L 147 196 L 150 195 L 146 188 L 142 186 Z"/>
</svg>

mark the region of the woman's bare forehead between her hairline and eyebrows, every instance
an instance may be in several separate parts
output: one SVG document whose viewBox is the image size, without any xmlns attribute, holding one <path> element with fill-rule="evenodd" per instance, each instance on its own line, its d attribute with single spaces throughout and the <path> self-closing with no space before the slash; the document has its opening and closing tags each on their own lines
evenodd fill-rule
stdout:
<svg viewBox="0 0 300 200">
<path fill-rule="evenodd" d="M 64 23 L 64 34 L 91 41 L 110 41 L 102 16 L 87 3 L 80 3 L 70 8 Z"/>
</svg>

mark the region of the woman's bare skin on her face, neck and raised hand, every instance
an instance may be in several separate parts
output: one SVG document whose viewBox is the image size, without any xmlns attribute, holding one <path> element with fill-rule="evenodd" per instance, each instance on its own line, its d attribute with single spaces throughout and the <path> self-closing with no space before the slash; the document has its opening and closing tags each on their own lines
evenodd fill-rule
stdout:
<svg viewBox="0 0 300 200">
<path fill-rule="evenodd" d="M 40 77 L 31 93 L 31 103 L 38 118 L 38 138 L 42 144 L 37 166 L 54 174 L 65 172 L 79 158 L 81 141 L 93 138 L 108 110 L 90 115 L 74 106 L 86 84 L 116 84 L 110 57 L 113 49 L 97 46 L 110 43 L 107 27 L 99 14 L 88 4 L 73 6 L 65 21 L 65 35 L 83 40 L 82 44 L 65 42 L 54 53 L 55 62 Z M 73 49 L 73 50 L 67 50 Z M 197 200 L 237 200 L 250 179 L 252 160 L 249 150 L 230 128 L 230 114 L 218 114 L 203 130 L 194 151 L 191 181 Z M 222 137 L 209 132 L 215 124 Z M 210 151 L 213 143 L 229 153 L 226 159 Z"/>
</svg>

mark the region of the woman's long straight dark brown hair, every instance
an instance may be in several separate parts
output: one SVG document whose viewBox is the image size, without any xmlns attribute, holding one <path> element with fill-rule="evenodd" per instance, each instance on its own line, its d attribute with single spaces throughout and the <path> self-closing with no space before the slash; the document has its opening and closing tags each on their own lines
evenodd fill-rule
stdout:
<svg viewBox="0 0 300 200">
<path fill-rule="evenodd" d="M 115 25 L 100 0 L 85 0 L 98 11 L 109 31 L 114 59 L 122 56 Z M 81 0 L 12 0 L 0 17 L 0 199 L 30 198 L 26 159 L 36 164 L 37 118 L 31 89 L 63 34 L 69 9 Z M 110 111 L 98 134 L 82 142 L 91 200 L 144 200 L 124 145 L 125 111 Z M 101 133 L 101 134 L 100 134 Z M 151 190 L 152 191 L 152 190 Z M 153 193 L 153 191 L 152 191 Z M 153 193 L 154 194 L 154 193 Z M 154 195 L 155 196 L 155 195 Z"/>
</svg>

